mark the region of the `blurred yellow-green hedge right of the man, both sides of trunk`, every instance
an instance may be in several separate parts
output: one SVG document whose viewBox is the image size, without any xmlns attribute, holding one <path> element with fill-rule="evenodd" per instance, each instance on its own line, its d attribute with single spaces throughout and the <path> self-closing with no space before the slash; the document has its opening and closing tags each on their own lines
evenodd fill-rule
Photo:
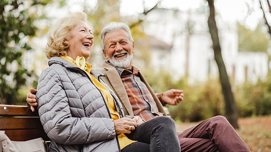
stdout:
<svg viewBox="0 0 271 152">
<path fill-rule="evenodd" d="M 143 72 L 155 92 L 169 89 L 184 91 L 184 101 L 167 105 L 175 121 L 198 122 L 216 115 L 224 115 L 224 98 L 219 79 L 189 85 L 186 78 L 172 80 L 165 71 Z M 271 115 L 271 79 L 257 84 L 245 82 L 233 88 L 239 117 Z"/>
</svg>

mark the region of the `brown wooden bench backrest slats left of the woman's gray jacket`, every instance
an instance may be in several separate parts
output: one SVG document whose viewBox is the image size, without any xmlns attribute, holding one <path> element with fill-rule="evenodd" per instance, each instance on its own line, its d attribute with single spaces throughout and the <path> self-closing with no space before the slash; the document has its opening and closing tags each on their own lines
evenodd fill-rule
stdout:
<svg viewBox="0 0 271 152">
<path fill-rule="evenodd" d="M 37 110 L 32 112 L 30 106 L 0 104 L 0 130 L 5 130 L 12 141 L 39 137 L 48 143 L 50 141 L 40 123 Z"/>
</svg>

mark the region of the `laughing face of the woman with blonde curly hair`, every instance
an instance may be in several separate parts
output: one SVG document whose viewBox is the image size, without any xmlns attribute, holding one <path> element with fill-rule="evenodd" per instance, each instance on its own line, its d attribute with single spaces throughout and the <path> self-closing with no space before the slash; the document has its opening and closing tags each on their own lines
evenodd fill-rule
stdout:
<svg viewBox="0 0 271 152">
<path fill-rule="evenodd" d="M 67 55 L 73 60 L 77 56 L 84 57 L 86 60 L 90 57 L 90 49 L 93 44 L 92 31 L 89 25 L 84 21 L 79 21 L 70 30 L 70 36 L 67 38 L 69 48 Z"/>
</svg>

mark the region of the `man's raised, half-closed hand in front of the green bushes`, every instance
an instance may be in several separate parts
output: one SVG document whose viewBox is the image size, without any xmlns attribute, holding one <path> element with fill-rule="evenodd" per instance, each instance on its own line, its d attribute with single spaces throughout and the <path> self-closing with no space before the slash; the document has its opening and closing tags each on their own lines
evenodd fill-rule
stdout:
<svg viewBox="0 0 271 152">
<path fill-rule="evenodd" d="M 162 101 L 170 105 L 177 105 L 183 100 L 184 94 L 182 90 L 171 89 L 162 94 Z"/>
</svg>

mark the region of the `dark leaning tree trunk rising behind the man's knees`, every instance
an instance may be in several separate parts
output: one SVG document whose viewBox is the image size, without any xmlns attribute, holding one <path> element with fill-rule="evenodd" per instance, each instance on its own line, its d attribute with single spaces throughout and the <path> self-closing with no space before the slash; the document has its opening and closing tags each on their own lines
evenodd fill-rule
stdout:
<svg viewBox="0 0 271 152">
<path fill-rule="evenodd" d="M 210 15 L 208 18 L 208 26 L 209 31 L 211 34 L 211 38 L 213 41 L 213 50 L 214 50 L 214 59 L 217 63 L 218 70 L 219 70 L 219 78 L 222 86 L 222 92 L 224 96 L 225 102 L 225 117 L 228 121 L 232 124 L 234 128 L 239 128 L 237 120 L 238 120 L 238 113 L 237 108 L 234 101 L 233 92 L 231 89 L 231 85 L 229 82 L 227 70 L 222 59 L 221 48 L 219 43 L 218 31 L 215 22 L 215 8 L 214 8 L 214 1 L 207 0 L 208 5 L 210 8 Z"/>
</svg>

